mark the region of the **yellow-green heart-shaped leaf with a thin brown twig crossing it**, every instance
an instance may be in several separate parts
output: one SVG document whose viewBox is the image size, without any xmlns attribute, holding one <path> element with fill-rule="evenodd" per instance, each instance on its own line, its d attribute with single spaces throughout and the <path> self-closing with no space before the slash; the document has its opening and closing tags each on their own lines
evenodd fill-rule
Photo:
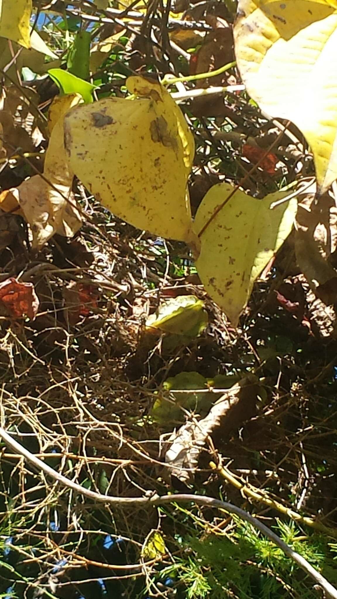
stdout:
<svg viewBox="0 0 337 599">
<path fill-rule="evenodd" d="M 228 183 L 210 188 L 195 215 L 197 234 L 231 192 Z M 233 326 L 247 305 L 254 281 L 291 231 L 296 198 L 270 210 L 273 202 L 286 195 L 277 192 L 255 199 L 237 190 L 201 234 L 195 266 L 206 291 Z"/>
</svg>

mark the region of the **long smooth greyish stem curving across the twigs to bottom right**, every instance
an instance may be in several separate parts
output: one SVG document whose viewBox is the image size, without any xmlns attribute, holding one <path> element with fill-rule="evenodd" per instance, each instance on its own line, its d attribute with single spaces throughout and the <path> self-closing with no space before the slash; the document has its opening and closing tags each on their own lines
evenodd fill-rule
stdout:
<svg viewBox="0 0 337 599">
<path fill-rule="evenodd" d="M 218 499 L 213 499 L 212 497 L 203 497 L 201 495 L 188 495 L 188 494 L 177 494 L 177 495 L 162 495 L 161 497 L 157 494 L 150 495 L 149 497 L 113 497 L 111 495 L 103 495 L 101 493 L 91 491 L 90 489 L 86 489 L 81 485 L 73 482 L 73 480 L 67 479 L 67 477 L 63 476 L 63 474 L 58 473 L 53 468 L 50 468 L 47 464 L 45 464 L 41 459 L 37 458 L 33 453 L 29 452 L 28 449 L 23 447 L 20 443 L 14 440 L 7 431 L 3 428 L 0 428 L 0 437 L 5 441 L 5 443 L 11 447 L 15 452 L 22 455 L 26 458 L 31 464 L 33 464 L 38 470 L 42 470 L 44 473 L 51 476 L 54 480 L 61 483 L 62 485 L 76 491 L 86 497 L 91 498 L 94 501 L 99 501 L 100 503 L 105 504 L 113 504 L 115 506 L 134 506 L 134 507 L 145 507 L 145 506 L 161 506 L 167 503 L 191 503 L 191 501 L 198 506 L 209 506 L 215 507 L 219 510 L 224 510 L 225 512 L 235 514 L 242 518 L 246 522 L 249 522 L 254 527 L 256 527 L 261 533 L 263 533 L 268 539 L 273 541 L 282 551 L 293 559 L 297 565 L 299 565 L 302 570 L 306 572 L 315 582 L 324 589 L 326 593 L 326 597 L 329 599 L 337 599 L 337 589 L 330 584 L 315 568 L 306 561 L 302 555 L 299 555 L 296 551 L 293 551 L 291 547 L 287 545 L 282 539 L 280 539 L 277 534 L 273 533 L 270 528 L 267 528 L 262 522 L 260 522 L 254 516 L 251 516 L 245 510 L 242 510 L 240 507 L 234 506 L 227 501 L 220 501 Z"/>
</svg>

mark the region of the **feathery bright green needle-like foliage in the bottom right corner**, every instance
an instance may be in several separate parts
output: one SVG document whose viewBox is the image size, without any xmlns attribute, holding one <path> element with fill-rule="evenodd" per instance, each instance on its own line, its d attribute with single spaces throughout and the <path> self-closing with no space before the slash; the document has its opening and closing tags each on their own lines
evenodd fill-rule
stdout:
<svg viewBox="0 0 337 599">
<path fill-rule="evenodd" d="M 312 581 L 272 541 L 261 536 L 248 522 L 234 518 L 229 534 L 204 533 L 180 539 L 185 558 L 158 573 L 171 576 L 177 596 L 195 599 L 314 599 Z M 309 563 L 337 582 L 333 552 L 326 538 L 304 536 L 294 522 L 278 520 L 276 533 Z M 176 523 L 177 524 L 177 523 Z M 332 548 L 331 548 L 332 549 Z M 183 589 L 183 590 L 182 590 Z"/>
</svg>

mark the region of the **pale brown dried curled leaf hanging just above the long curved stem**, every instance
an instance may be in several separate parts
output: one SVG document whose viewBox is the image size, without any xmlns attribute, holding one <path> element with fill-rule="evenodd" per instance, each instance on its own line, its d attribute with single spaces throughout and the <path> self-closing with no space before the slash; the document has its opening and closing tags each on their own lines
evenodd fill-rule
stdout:
<svg viewBox="0 0 337 599">
<path fill-rule="evenodd" d="M 250 403 L 257 401 L 257 378 L 249 375 L 234 385 L 228 393 L 219 398 L 205 418 L 198 422 L 187 422 L 173 432 L 167 441 L 165 462 L 171 475 L 189 485 L 194 479 L 198 459 L 207 437 L 212 434 L 228 416 L 239 401 Z"/>
</svg>

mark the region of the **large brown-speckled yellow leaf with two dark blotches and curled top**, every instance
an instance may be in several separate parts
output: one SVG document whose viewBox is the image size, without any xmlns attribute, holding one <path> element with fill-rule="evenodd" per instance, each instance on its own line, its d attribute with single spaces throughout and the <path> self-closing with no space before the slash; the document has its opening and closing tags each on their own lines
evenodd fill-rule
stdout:
<svg viewBox="0 0 337 599">
<path fill-rule="evenodd" d="M 137 99 L 105 98 L 65 117 L 70 166 L 113 214 L 161 237 L 191 241 L 186 182 L 194 140 L 169 92 L 130 77 Z"/>
</svg>

